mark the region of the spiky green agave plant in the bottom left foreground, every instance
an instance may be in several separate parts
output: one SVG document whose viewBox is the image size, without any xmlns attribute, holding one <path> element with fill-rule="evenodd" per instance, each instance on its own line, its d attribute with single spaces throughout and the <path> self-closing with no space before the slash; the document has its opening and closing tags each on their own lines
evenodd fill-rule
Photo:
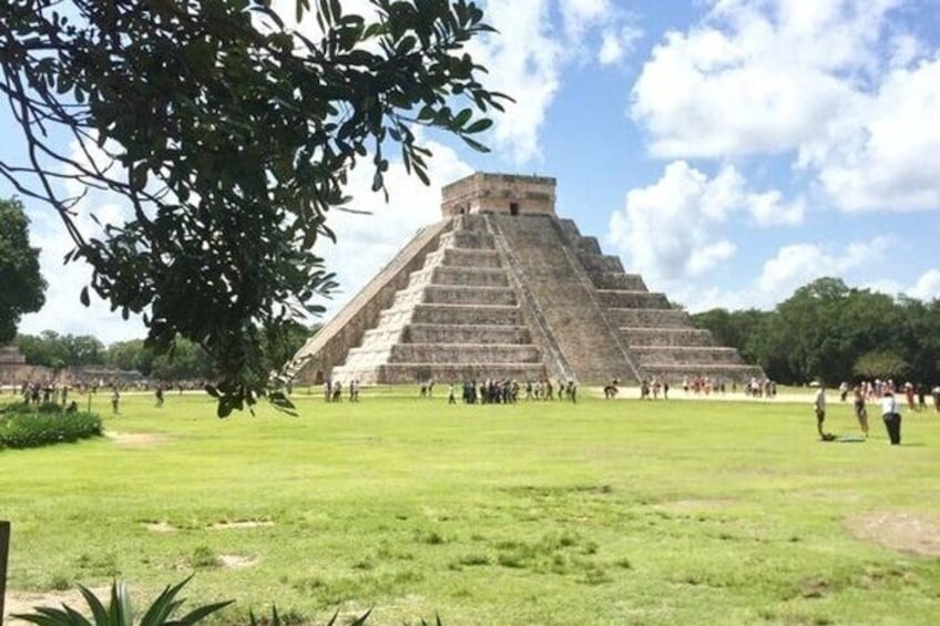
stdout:
<svg viewBox="0 0 940 626">
<path fill-rule="evenodd" d="M 176 609 L 186 602 L 185 599 L 177 599 L 176 595 L 191 578 L 192 576 L 172 587 L 167 585 L 163 593 L 153 601 L 140 622 L 134 619 L 131 594 L 127 591 L 127 585 L 122 581 L 114 581 L 111 584 L 111 602 L 106 607 L 88 587 L 79 585 L 79 591 L 91 608 L 92 619 L 65 604 L 62 605 L 62 608 L 37 606 L 33 607 L 35 613 L 13 615 L 13 617 L 38 626 L 190 626 L 235 602 L 229 599 L 207 604 L 191 610 L 183 617 L 174 617 Z"/>
</svg>

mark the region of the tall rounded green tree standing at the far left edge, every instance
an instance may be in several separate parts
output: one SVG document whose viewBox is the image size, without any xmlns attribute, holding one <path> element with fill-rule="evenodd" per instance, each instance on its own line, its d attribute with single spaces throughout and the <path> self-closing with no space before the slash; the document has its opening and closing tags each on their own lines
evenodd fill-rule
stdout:
<svg viewBox="0 0 940 626">
<path fill-rule="evenodd" d="M 0 199 L 0 345 L 17 336 L 22 314 L 45 302 L 39 250 L 29 244 L 29 218 L 18 199 Z"/>
</svg>

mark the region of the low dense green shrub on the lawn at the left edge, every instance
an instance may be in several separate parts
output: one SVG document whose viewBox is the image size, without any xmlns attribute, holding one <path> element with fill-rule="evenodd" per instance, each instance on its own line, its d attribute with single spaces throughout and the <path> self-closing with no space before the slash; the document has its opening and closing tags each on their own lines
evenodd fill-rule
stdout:
<svg viewBox="0 0 940 626">
<path fill-rule="evenodd" d="M 100 437 L 101 418 L 96 413 L 35 410 L 24 411 L 11 404 L 0 414 L 0 449 L 39 448 Z"/>
</svg>

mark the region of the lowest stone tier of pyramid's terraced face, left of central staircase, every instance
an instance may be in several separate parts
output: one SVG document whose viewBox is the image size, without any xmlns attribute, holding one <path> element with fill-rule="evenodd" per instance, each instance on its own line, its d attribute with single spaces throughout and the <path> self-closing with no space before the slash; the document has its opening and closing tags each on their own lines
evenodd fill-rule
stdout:
<svg viewBox="0 0 940 626">
<path fill-rule="evenodd" d="M 511 379 L 520 382 L 542 380 L 545 368 L 541 363 L 387 363 L 369 369 L 338 367 L 334 380 L 359 379 L 364 384 L 407 384 L 435 380 L 435 398 L 447 398 L 446 384 L 460 384 L 464 380 L 482 382 L 487 379 Z M 460 389 L 457 390 L 458 400 Z"/>
</svg>

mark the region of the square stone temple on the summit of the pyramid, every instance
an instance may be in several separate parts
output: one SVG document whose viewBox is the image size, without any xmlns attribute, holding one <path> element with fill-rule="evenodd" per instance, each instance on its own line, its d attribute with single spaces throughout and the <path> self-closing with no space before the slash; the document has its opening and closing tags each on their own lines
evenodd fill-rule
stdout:
<svg viewBox="0 0 940 626">
<path fill-rule="evenodd" d="M 554 215 L 555 179 L 478 172 L 441 189 L 445 217 L 495 213 Z"/>
</svg>

